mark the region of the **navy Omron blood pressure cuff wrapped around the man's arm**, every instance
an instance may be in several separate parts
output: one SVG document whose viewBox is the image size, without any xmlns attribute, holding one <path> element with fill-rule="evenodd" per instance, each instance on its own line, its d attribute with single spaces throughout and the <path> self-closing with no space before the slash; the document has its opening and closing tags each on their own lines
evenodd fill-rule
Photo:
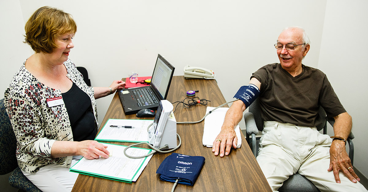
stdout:
<svg viewBox="0 0 368 192">
<path fill-rule="evenodd" d="M 238 92 L 235 94 L 234 98 L 238 98 L 245 104 L 245 107 L 248 108 L 252 102 L 259 95 L 259 88 L 254 84 L 249 84 L 247 86 L 241 86 Z"/>
</svg>

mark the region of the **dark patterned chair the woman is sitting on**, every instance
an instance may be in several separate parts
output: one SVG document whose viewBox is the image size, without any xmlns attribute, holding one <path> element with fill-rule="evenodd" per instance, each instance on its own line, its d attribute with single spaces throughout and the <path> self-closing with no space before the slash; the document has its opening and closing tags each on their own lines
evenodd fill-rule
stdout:
<svg viewBox="0 0 368 192">
<path fill-rule="evenodd" d="M 4 99 L 0 100 L 0 175 L 5 175 L 13 171 L 9 176 L 9 183 L 17 189 L 26 192 L 42 192 L 27 177 L 24 176 L 18 167 L 15 150 L 17 149 L 17 139 L 11 127 L 9 116 L 5 111 Z"/>
</svg>

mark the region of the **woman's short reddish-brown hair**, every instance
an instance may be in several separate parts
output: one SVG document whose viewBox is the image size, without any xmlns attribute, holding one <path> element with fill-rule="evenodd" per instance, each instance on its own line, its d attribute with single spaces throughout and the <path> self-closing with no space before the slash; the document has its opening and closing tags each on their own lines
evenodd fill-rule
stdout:
<svg viewBox="0 0 368 192">
<path fill-rule="evenodd" d="M 51 53 L 57 48 L 56 37 L 77 32 L 73 17 L 57 8 L 39 8 L 25 23 L 25 41 L 36 53 Z"/>
</svg>

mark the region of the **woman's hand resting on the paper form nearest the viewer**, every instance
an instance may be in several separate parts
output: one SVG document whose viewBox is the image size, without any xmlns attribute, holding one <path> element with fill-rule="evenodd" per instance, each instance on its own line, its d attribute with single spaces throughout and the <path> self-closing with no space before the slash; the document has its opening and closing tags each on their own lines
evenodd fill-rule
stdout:
<svg viewBox="0 0 368 192">
<path fill-rule="evenodd" d="M 77 144 L 77 153 L 87 159 L 98 159 L 100 157 L 109 158 L 110 152 L 107 146 L 97 141 L 85 140 L 79 141 Z"/>
</svg>

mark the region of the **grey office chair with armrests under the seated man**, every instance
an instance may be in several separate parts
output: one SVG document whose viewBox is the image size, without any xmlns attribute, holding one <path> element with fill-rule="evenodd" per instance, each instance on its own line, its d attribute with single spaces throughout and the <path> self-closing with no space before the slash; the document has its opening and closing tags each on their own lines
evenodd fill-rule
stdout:
<svg viewBox="0 0 368 192">
<path fill-rule="evenodd" d="M 320 131 L 323 129 L 323 134 L 327 134 L 327 122 L 333 126 L 335 119 L 326 117 L 326 112 L 322 107 L 319 109 L 319 116 L 326 120 L 316 126 L 317 130 Z M 244 120 L 247 132 L 246 139 L 250 144 L 254 156 L 256 157 L 258 156 L 259 139 L 257 140 L 255 135 L 258 134 L 258 131 L 263 130 L 263 120 L 261 118 L 261 109 L 258 99 L 249 106 L 249 112 L 244 114 Z M 250 135 L 252 136 L 252 141 L 250 141 Z M 349 157 L 351 164 L 353 164 L 354 160 L 354 145 L 353 141 L 351 141 L 352 139 L 354 139 L 354 135 L 353 133 L 350 133 L 347 142 L 349 144 Z M 320 192 L 311 181 L 298 173 L 290 175 L 289 179 L 284 181 L 283 185 L 278 190 L 280 192 Z"/>
</svg>

